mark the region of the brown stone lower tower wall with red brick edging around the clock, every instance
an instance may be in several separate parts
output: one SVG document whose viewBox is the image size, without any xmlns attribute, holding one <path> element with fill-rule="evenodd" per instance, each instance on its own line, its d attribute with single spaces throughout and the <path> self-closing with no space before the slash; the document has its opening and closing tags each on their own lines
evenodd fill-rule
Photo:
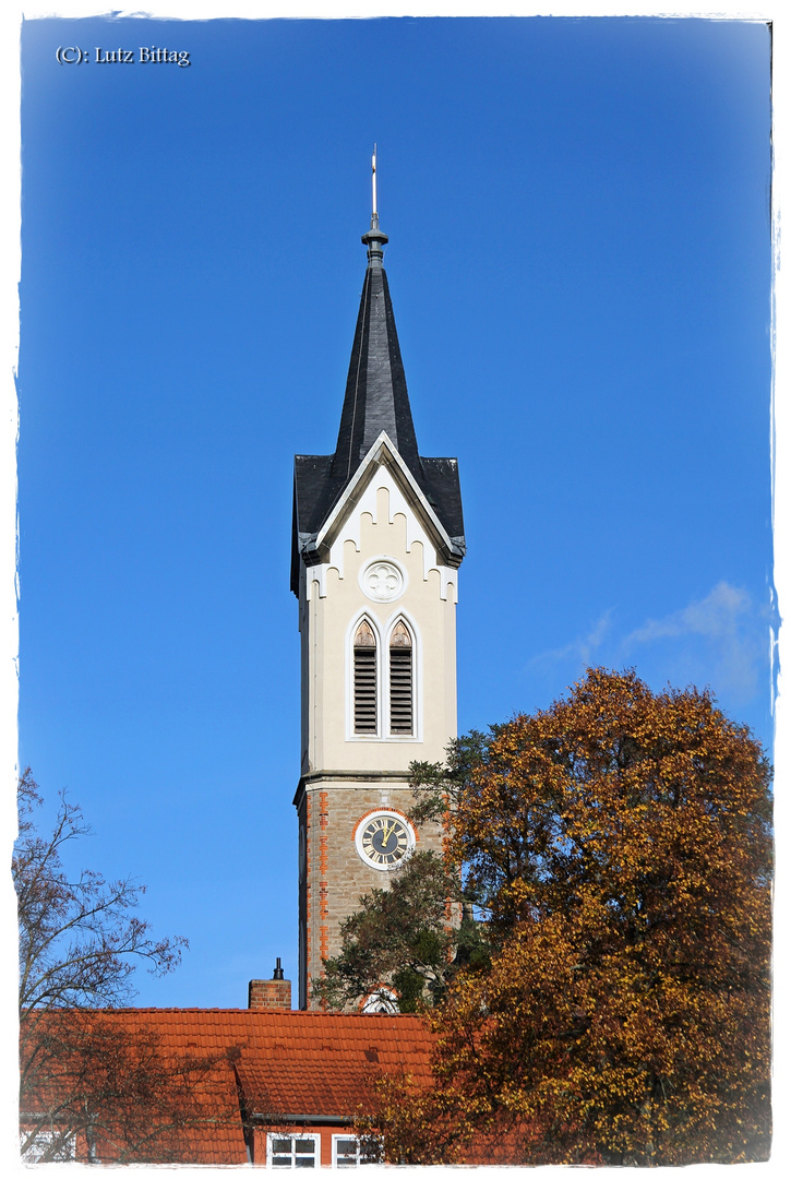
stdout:
<svg viewBox="0 0 791 1179">
<path fill-rule="evenodd" d="M 306 872 L 302 891 L 306 918 L 306 1002 L 322 962 L 341 949 L 341 922 L 360 908 L 360 897 L 371 888 L 387 888 L 389 872 L 376 871 L 357 855 L 355 829 L 369 811 L 385 808 L 404 815 L 413 796 L 402 783 L 337 788 L 331 783 L 308 788 Z M 416 831 L 421 850 L 442 848 L 442 829 L 433 823 Z"/>
</svg>

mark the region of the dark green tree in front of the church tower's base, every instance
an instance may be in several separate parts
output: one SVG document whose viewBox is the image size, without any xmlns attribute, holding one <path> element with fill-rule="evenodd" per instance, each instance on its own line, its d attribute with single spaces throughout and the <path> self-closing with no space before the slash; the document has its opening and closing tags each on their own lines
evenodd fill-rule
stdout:
<svg viewBox="0 0 791 1179">
<path fill-rule="evenodd" d="M 462 964 L 488 961 L 460 877 L 434 851 L 417 851 L 342 923 L 341 953 L 324 961 L 314 997 L 343 1009 L 395 993 L 398 1010 L 435 1006 Z"/>
</svg>

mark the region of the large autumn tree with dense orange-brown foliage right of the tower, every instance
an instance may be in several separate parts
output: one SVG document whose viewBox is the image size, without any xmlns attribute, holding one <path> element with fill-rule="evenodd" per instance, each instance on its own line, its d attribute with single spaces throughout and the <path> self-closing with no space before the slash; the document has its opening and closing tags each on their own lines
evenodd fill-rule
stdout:
<svg viewBox="0 0 791 1179">
<path fill-rule="evenodd" d="M 416 789 L 450 806 L 493 955 L 433 1015 L 434 1087 L 384 1082 L 388 1158 L 765 1159 L 771 792 L 750 732 L 708 692 L 592 668 Z"/>
</svg>

